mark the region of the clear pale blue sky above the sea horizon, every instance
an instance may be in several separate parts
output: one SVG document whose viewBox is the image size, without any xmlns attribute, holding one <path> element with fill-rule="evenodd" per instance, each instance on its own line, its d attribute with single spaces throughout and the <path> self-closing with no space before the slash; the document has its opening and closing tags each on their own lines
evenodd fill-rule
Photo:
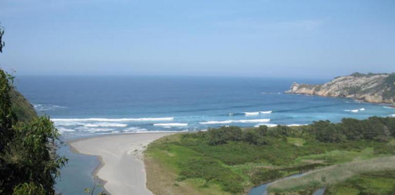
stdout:
<svg viewBox="0 0 395 195">
<path fill-rule="evenodd" d="M 1 0 L 16 75 L 395 72 L 395 1 Z"/>
</svg>

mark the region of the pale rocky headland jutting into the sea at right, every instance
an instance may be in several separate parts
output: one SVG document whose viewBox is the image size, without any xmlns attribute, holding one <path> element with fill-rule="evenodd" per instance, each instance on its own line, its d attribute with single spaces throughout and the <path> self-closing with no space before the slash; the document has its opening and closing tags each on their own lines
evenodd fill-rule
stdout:
<svg viewBox="0 0 395 195">
<path fill-rule="evenodd" d="M 321 85 L 293 83 L 286 93 L 348 97 L 371 103 L 390 103 L 395 106 L 395 73 L 354 73 L 336 77 Z"/>
</svg>

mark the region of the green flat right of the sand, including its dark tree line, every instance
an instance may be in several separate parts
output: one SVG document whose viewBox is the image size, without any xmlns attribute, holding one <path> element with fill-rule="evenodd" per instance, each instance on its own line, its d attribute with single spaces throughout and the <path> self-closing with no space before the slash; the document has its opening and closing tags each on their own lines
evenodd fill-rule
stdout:
<svg viewBox="0 0 395 195">
<path fill-rule="evenodd" d="M 351 162 L 378 164 L 374 159 L 395 154 L 394 135 L 395 119 L 378 117 L 343 119 L 338 124 L 318 121 L 299 127 L 241 129 L 230 126 L 169 135 L 151 143 L 145 154 L 150 163 L 168 171 L 161 173 L 175 175 L 169 187 L 175 191 L 188 185 L 196 193 L 212 189 L 242 194 L 253 186 L 290 174 L 340 164 L 348 167 L 346 164 Z M 150 169 L 154 165 L 146 166 Z M 379 171 L 376 167 L 365 169 Z M 355 171 L 352 175 L 362 173 Z M 323 181 L 332 181 L 329 176 L 325 177 Z M 150 178 L 147 179 L 149 186 Z"/>
</svg>

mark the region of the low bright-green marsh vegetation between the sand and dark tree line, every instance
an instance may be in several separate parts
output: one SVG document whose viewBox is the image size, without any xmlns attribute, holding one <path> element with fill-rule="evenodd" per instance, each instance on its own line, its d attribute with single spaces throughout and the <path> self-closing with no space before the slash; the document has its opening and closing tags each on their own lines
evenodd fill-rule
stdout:
<svg viewBox="0 0 395 195">
<path fill-rule="evenodd" d="M 145 152 L 147 186 L 157 194 L 241 194 L 291 174 L 376 157 L 374 147 L 382 145 L 365 141 L 353 143 L 355 147 L 316 142 L 295 146 L 281 139 L 269 142 L 272 146 L 237 142 L 209 146 L 182 134 L 165 136 L 151 143 Z"/>
</svg>

